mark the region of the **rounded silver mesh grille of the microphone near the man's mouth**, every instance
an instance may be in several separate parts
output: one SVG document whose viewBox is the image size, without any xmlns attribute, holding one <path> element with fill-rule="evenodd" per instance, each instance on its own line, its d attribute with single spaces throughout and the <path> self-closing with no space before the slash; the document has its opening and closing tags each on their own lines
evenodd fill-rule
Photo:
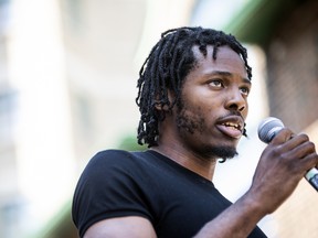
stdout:
<svg viewBox="0 0 318 238">
<path fill-rule="evenodd" d="M 265 143 L 269 143 L 275 137 L 276 132 L 284 128 L 282 120 L 268 117 L 264 119 L 258 126 L 258 138 Z"/>
</svg>

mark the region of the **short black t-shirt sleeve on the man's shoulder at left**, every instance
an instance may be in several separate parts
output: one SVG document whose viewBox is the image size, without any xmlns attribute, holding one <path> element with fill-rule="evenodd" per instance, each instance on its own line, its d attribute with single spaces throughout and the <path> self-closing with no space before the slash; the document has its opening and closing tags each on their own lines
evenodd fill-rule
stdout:
<svg viewBox="0 0 318 238">
<path fill-rule="evenodd" d="M 99 152 L 88 162 L 72 206 L 81 237 L 93 224 L 107 218 L 134 215 L 151 220 L 137 166 L 131 153 L 117 150 Z"/>
</svg>

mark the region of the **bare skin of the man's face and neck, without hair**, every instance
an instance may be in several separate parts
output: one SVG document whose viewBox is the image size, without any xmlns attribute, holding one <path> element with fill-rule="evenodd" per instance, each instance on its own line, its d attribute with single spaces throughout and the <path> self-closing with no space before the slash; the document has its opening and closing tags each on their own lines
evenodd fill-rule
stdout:
<svg viewBox="0 0 318 238">
<path fill-rule="evenodd" d="M 209 55 L 204 58 L 194 48 L 194 54 L 201 60 L 186 78 L 183 109 L 179 111 L 174 108 L 172 115 L 160 125 L 159 145 L 153 150 L 212 180 L 215 161 L 220 158 L 213 153 L 213 149 L 235 151 L 242 137 L 251 82 L 243 61 L 237 54 L 232 54 L 232 50 L 221 47 L 216 61 L 212 60 L 212 47 L 208 50 Z M 176 120 L 180 113 L 187 115 L 192 125 L 197 122 L 200 127 L 193 133 L 188 132 L 187 128 L 179 128 Z M 232 127 L 225 127 L 225 123 Z"/>
</svg>

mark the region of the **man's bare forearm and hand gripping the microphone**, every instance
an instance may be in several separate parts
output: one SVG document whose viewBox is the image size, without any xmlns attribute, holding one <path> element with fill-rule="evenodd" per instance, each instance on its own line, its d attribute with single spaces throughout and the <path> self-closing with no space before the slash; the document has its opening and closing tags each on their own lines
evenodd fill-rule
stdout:
<svg viewBox="0 0 318 238">
<path fill-rule="evenodd" d="M 264 150 L 251 188 L 195 236 L 247 237 L 256 224 L 276 210 L 294 192 L 305 173 L 318 164 L 312 142 L 305 134 L 292 137 L 284 129 Z"/>
</svg>

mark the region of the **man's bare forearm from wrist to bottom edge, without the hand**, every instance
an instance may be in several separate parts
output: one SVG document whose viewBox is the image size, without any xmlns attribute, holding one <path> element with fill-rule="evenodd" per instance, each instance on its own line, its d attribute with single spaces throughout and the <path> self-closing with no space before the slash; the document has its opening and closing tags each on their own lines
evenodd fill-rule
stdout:
<svg viewBox="0 0 318 238">
<path fill-rule="evenodd" d="M 246 238 L 267 215 L 261 203 L 247 193 L 197 234 L 195 238 Z"/>
</svg>

